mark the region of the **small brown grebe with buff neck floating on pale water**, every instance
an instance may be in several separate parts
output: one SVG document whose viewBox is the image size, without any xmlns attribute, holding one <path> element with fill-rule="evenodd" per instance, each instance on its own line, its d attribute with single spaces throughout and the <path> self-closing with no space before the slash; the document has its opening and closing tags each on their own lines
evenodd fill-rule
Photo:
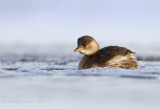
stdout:
<svg viewBox="0 0 160 109">
<path fill-rule="evenodd" d="M 75 49 L 75 52 L 84 54 L 78 69 L 91 67 L 138 68 L 134 52 L 119 46 L 108 46 L 99 49 L 98 43 L 90 36 L 82 36 L 78 39 L 78 47 Z"/>
</svg>

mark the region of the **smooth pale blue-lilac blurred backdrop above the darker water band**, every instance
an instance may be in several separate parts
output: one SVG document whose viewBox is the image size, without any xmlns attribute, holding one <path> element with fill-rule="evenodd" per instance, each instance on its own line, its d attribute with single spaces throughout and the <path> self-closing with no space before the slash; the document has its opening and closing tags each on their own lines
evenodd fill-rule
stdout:
<svg viewBox="0 0 160 109">
<path fill-rule="evenodd" d="M 0 0 L 0 44 L 73 49 L 78 37 L 91 35 L 101 47 L 159 54 L 159 6 L 159 0 Z"/>
</svg>

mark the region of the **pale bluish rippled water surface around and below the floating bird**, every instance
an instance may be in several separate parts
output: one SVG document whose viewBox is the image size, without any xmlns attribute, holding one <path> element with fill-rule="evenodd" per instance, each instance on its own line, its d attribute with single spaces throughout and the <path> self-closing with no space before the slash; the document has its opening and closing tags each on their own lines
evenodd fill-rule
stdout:
<svg viewBox="0 0 160 109">
<path fill-rule="evenodd" d="M 0 105 L 23 109 L 158 109 L 160 62 L 139 69 L 77 70 L 72 52 L 5 52 L 0 56 Z"/>
</svg>

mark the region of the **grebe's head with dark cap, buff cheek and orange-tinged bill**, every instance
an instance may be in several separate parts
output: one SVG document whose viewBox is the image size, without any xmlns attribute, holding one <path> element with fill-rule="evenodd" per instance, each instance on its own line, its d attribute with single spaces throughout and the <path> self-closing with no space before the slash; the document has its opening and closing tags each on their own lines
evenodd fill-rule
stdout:
<svg viewBox="0 0 160 109">
<path fill-rule="evenodd" d="M 78 39 L 78 47 L 74 52 L 80 52 L 84 55 L 92 55 L 99 50 L 99 45 L 96 40 L 91 36 L 82 36 Z"/>
</svg>

